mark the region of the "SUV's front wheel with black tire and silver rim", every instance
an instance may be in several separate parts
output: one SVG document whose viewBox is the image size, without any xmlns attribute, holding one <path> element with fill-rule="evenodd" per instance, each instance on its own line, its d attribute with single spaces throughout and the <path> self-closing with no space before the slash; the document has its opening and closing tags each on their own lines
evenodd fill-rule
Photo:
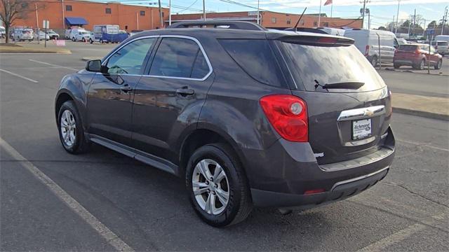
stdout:
<svg viewBox="0 0 449 252">
<path fill-rule="evenodd" d="M 67 118 L 70 119 L 67 120 Z M 67 125 L 70 125 L 69 128 L 66 127 Z M 72 132 L 73 134 L 67 136 L 62 128 L 65 128 L 65 132 L 72 132 L 72 130 L 67 130 L 67 128 L 74 129 Z M 90 142 L 84 136 L 81 117 L 79 116 L 78 109 L 76 109 L 73 101 L 67 101 L 62 104 L 58 112 L 58 132 L 61 144 L 68 153 L 77 154 L 88 151 Z M 66 139 L 65 136 L 67 136 Z"/>
</svg>

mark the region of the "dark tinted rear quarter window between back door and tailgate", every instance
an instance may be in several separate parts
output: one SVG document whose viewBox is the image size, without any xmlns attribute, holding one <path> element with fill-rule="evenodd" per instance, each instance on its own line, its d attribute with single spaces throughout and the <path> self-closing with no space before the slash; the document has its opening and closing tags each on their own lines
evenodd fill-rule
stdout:
<svg viewBox="0 0 449 252">
<path fill-rule="evenodd" d="M 249 76 L 267 85 L 283 86 L 285 80 L 267 40 L 220 39 L 220 44 Z"/>
</svg>

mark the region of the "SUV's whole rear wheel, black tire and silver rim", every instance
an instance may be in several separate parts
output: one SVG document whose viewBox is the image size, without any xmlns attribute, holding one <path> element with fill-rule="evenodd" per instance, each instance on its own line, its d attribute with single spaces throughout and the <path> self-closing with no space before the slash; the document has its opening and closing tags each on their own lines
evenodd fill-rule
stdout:
<svg viewBox="0 0 449 252">
<path fill-rule="evenodd" d="M 206 168 L 209 172 L 208 175 L 216 177 L 215 181 L 213 178 L 206 179 L 203 174 L 207 174 L 207 172 L 201 170 L 201 164 L 205 165 L 203 167 L 208 167 Z M 224 175 L 215 176 L 213 173 L 219 168 Z M 187 163 L 185 175 L 192 207 L 196 214 L 209 225 L 224 227 L 240 223 L 248 217 L 253 209 L 243 167 L 234 151 L 226 144 L 208 144 L 197 149 Z M 220 179 L 217 179 L 219 177 Z M 216 183 L 217 181 L 219 182 Z M 201 186 L 194 188 L 194 183 L 201 184 Z M 194 190 L 198 193 L 202 191 L 201 189 L 206 191 L 195 195 Z M 208 204 L 208 199 L 214 200 L 213 207 Z M 223 200 L 220 199 L 224 199 L 226 204 L 222 204 Z"/>
</svg>

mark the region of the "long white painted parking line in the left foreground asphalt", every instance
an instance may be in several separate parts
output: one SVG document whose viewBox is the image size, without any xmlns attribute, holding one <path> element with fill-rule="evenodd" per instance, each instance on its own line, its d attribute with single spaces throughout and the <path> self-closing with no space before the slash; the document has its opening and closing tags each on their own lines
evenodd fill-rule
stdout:
<svg viewBox="0 0 449 252">
<path fill-rule="evenodd" d="M 31 172 L 36 179 L 39 179 L 45 186 L 48 187 L 56 196 L 58 196 L 67 206 L 78 214 L 86 223 L 98 232 L 100 236 L 106 239 L 107 243 L 116 248 L 117 251 L 134 251 L 128 244 L 125 243 L 114 232 L 109 230 L 106 225 L 101 223 L 98 218 L 93 216 L 87 209 L 85 209 L 79 202 L 77 202 L 72 196 L 70 196 L 65 190 L 60 188 L 57 183 L 50 179 L 46 174 L 43 174 L 39 168 L 35 167 L 32 162 L 29 162 L 18 151 L 9 145 L 4 139 L 0 137 L 0 146 L 11 155 L 15 160 L 21 160 L 20 164 Z"/>
</svg>

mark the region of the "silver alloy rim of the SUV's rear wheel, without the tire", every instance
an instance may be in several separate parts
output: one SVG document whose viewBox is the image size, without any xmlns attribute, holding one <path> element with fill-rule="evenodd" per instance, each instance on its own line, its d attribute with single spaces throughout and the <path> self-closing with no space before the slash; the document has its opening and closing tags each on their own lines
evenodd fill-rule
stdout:
<svg viewBox="0 0 449 252">
<path fill-rule="evenodd" d="M 225 211 L 229 202 L 229 182 L 225 170 L 217 162 L 204 159 L 196 164 L 192 188 L 203 211 L 213 215 Z"/>
</svg>

